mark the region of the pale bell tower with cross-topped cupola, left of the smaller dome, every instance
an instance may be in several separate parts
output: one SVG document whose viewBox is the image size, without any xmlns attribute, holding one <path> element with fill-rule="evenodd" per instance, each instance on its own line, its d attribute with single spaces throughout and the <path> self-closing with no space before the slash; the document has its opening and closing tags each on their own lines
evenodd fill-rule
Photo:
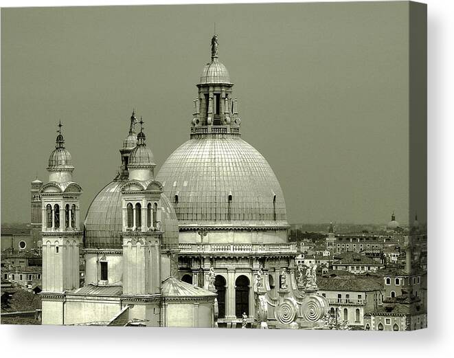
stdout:
<svg viewBox="0 0 454 358">
<path fill-rule="evenodd" d="M 41 186 L 43 238 L 43 324 L 64 324 L 65 291 L 79 288 L 80 194 L 72 180 L 71 154 L 58 124 L 56 148 L 49 157 L 49 181 Z"/>
</svg>

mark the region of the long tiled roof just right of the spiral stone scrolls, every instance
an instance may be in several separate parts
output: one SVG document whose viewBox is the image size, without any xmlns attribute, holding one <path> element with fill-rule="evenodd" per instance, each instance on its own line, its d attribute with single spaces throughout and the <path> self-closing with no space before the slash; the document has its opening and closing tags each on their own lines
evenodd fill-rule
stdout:
<svg viewBox="0 0 454 358">
<path fill-rule="evenodd" d="M 324 291 L 380 291 L 383 289 L 381 278 L 376 277 L 321 277 L 317 278 L 317 286 Z"/>
</svg>

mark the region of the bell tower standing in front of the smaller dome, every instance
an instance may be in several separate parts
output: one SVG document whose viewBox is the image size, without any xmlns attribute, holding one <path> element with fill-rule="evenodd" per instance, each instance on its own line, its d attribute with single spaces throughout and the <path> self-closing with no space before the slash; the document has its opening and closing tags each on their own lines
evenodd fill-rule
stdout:
<svg viewBox="0 0 454 358">
<path fill-rule="evenodd" d="M 155 181 L 155 161 L 146 146 L 144 122 L 137 146 L 130 152 L 129 181 L 122 186 L 123 293 L 152 295 L 161 289 L 161 183 Z M 167 277 L 167 276 L 166 276 Z"/>
</svg>

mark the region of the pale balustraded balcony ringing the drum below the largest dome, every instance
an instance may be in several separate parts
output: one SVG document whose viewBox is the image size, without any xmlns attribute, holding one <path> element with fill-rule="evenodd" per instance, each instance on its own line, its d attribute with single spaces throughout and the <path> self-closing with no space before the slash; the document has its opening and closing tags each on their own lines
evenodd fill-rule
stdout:
<svg viewBox="0 0 454 358">
<path fill-rule="evenodd" d="M 297 254 L 296 244 L 179 244 L 181 254 Z"/>
</svg>

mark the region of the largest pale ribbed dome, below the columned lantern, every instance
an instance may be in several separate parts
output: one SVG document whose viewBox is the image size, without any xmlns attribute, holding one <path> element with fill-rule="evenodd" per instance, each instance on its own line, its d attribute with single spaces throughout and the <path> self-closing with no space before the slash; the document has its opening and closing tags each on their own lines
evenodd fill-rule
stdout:
<svg viewBox="0 0 454 358">
<path fill-rule="evenodd" d="M 168 157 L 157 180 L 180 227 L 288 227 L 273 170 L 240 137 L 188 140 Z"/>
</svg>

